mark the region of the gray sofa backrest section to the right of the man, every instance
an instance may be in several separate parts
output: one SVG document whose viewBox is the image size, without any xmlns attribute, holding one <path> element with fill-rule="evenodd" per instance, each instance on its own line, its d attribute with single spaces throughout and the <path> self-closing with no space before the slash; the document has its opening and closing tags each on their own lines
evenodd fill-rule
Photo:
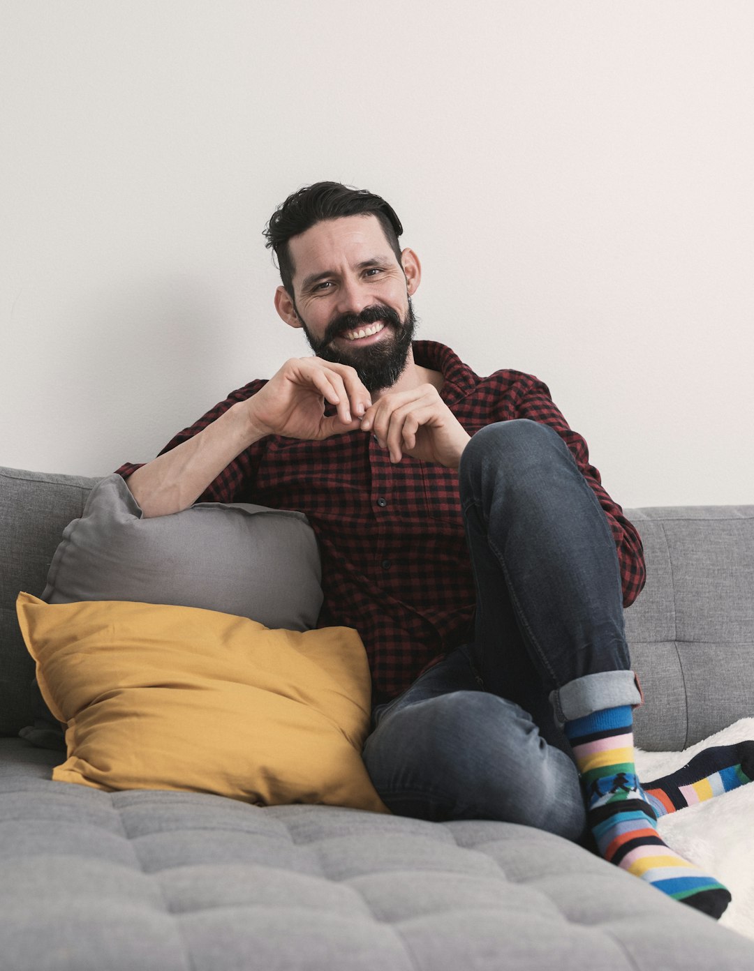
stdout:
<svg viewBox="0 0 754 971">
<path fill-rule="evenodd" d="M 647 583 L 625 611 L 637 744 L 680 751 L 754 716 L 754 506 L 627 509 Z"/>
</svg>

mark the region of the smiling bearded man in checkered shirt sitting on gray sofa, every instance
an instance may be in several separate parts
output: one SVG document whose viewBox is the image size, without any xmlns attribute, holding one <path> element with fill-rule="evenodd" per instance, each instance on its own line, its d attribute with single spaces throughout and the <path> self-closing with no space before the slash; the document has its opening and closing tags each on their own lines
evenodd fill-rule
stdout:
<svg viewBox="0 0 754 971">
<path fill-rule="evenodd" d="M 413 342 L 422 273 L 401 232 L 365 190 L 293 193 L 266 230 L 275 306 L 315 356 L 120 474 L 147 516 L 198 499 L 306 513 L 320 622 L 356 627 L 369 655 L 364 761 L 394 812 L 591 833 L 605 858 L 717 918 L 730 893 L 666 847 L 656 818 L 749 750 L 639 785 L 623 628 L 644 581 L 639 537 L 545 385 L 482 379 Z"/>
</svg>

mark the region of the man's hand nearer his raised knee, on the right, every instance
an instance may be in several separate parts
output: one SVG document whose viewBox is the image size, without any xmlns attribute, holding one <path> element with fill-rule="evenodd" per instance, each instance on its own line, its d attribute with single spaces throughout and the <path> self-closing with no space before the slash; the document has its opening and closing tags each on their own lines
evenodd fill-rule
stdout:
<svg viewBox="0 0 754 971">
<path fill-rule="evenodd" d="M 434 385 L 388 391 L 367 409 L 360 428 L 371 431 L 380 446 L 390 450 L 392 462 L 405 454 L 449 469 L 459 467 L 470 439 Z"/>
</svg>

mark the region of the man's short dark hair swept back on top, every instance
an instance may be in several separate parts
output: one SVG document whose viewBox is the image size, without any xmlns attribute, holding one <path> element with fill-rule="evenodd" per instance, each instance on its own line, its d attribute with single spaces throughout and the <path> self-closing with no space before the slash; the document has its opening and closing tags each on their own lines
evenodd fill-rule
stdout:
<svg viewBox="0 0 754 971">
<path fill-rule="evenodd" d="M 267 249 L 271 248 L 277 256 L 280 278 L 291 298 L 295 272 L 288 245 L 291 236 L 298 236 L 317 222 L 344 216 L 376 216 L 395 258 L 400 262 L 398 236 L 403 232 L 403 226 L 393 207 L 384 199 L 365 188 L 353 188 L 340 183 L 305 185 L 292 192 L 278 206 L 264 229 L 264 236 L 267 238 L 265 246 Z"/>
</svg>

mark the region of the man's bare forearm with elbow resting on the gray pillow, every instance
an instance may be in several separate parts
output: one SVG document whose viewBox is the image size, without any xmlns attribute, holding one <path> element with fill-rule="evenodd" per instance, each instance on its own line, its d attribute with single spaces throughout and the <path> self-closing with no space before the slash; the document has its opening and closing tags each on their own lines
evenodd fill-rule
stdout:
<svg viewBox="0 0 754 971">
<path fill-rule="evenodd" d="M 223 469 L 263 436 L 239 402 L 187 441 L 163 452 L 126 480 L 146 517 L 187 509 Z"/>
</svg>

